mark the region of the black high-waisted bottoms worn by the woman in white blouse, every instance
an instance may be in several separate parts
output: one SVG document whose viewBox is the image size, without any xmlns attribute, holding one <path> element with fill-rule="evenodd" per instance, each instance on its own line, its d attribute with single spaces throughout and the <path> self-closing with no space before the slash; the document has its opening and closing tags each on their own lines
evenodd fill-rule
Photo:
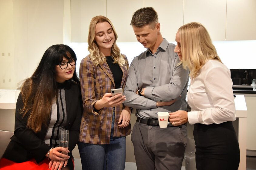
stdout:
<svg viewBox="0 0 256 170">
<path fill-rule="evenodd" d="M 237 170 L 240 150 L 231 121 L 221 124 L 195 124 L 197 170 Z"/>
</svg>

